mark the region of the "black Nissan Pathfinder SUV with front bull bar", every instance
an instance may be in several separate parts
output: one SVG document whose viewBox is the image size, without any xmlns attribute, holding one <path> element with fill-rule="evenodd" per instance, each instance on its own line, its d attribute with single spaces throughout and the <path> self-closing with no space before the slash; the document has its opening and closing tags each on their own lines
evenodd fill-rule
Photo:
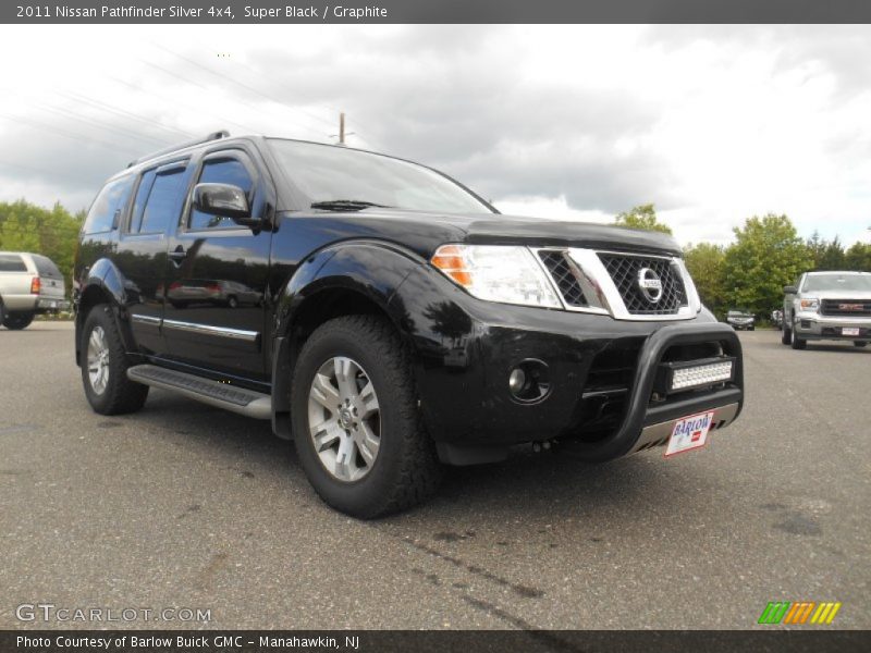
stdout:
<svg viewBox="0 0 871 653">
<path fill-rule="evenodd" d="M 339 146 L 221 132 L 134 161 L 90 208 L 75 305 L 97 412 L 156 386 L 271 419 L 358 517 L 514 444 L 695 448 L 743 404 L 739 342 L 670 236 L 510 218 Z"/>
</svg>

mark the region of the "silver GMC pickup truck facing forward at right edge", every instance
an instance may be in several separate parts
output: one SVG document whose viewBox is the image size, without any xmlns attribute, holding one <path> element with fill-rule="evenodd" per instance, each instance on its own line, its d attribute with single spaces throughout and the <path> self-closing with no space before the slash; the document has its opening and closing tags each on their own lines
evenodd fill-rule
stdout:
<svg viewBox="0 0 871 653">
<path fill-rule="evenodd" d="M 806 272 L 784 286 L 784 345 L 803 349 L 810 340 L 871 341 L 871 273 Z"/>
</svg>

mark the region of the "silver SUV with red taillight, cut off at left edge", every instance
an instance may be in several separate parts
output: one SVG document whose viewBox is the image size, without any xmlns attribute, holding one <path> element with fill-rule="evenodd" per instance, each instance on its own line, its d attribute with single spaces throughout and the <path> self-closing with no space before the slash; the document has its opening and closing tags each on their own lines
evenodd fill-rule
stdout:
<svg viewBox="0 0 871 653">
<path fill-rule="evenodd" d="M 63 274 L 39 254 L 0 251 L 0 322 L 25 329 L 36 313 L 66 310 Z"/>
</svg>

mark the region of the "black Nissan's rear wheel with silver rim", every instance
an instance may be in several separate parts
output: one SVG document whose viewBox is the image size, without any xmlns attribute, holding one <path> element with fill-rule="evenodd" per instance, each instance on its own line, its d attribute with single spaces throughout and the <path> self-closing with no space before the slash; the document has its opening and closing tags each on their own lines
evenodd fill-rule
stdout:
<svg viewBox="0 0 871 653">
<path fill-rule="evenodd" d="M 127 379 L 131 360 L 118 332 L 112 309 L 95 306 L 82 329 L 82 384 L 100 415 L 135 412 L 148 397 L 148 386 Z"/>
</svg>

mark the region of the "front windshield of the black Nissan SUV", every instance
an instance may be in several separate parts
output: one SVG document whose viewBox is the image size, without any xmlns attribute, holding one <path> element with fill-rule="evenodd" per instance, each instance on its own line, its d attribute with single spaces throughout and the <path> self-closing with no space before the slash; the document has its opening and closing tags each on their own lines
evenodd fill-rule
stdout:
<svg viewBox="0 0 871 653">
<path fill-rule="evenodd" d="M 269 143 L 287 178 L 319 205 L 315 208 L 492 212 L 455 182 L 416 163 L 317 143 L 277 138 Z"/>
</svg>

